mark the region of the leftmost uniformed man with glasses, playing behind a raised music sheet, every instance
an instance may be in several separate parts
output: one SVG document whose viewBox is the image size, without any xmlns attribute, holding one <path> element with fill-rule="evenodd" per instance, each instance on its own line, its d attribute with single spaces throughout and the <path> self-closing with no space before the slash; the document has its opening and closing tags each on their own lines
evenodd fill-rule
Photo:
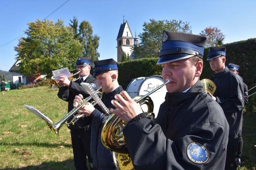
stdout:
<svg viewBox="0 0 256 170">
<path fill-rule="evenodd" d="M 85 82 L 91 84 L 95 89 L 99 89 L 97 85 L 97 79 L 93 78 L 90 74 L 91 69 L 91 59 L 86 57 L 79 57 L 76 61 L 77 71 L 80 71 L 80 79 L 74 82 L 69 81 L 67 77 L 60 76 L 58 81 L 61 81 L 63 87 L 59 88 L 58 97 L 62 100 L 68 102 L 68 112 L 70 112 L 73 107 L 73 100 L 76 95 L 83 94 L 85 98 L 89 97 L 87 91 L 80 85 L 80 83 Z M 73 119 L 71 117 L 68 122 Z M 86 165 L 86 156 L 88 158 L 90 169 L 94 169 L 93 167 L 93 159 L 90 154 L 90 141 L 91 141 L 91 119 L 86 118 L 86 123 L 83 126 L 77 125 L 69 125 L 68 128 L 71 132 L 71 140 L 73 147 L 73 155 L 75 168 L 77 170 L 88 169 Z"/>
</svg>

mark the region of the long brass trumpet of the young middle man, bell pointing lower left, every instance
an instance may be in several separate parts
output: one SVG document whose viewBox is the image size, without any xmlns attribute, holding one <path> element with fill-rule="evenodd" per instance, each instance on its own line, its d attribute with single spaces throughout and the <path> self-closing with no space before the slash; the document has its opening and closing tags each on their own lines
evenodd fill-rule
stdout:
<svg viewBox="0 0 256 170">
<path fill-rule="evenodd" d="M 95 93 L 97 95 L 100 95 L 100 99 L 102 98 L 102 93 L 99 91 L 101 89 L 101 87 L 95 91 Z M 86 99 L 83 99 L 81 101 L 81 103 L 79 103 L 79 105 L 76 107 L 76 108 L 73 108 L 67 115 L 65 115 L 59 122 L 55 123 L 55 124 L 51 124 L 49 123 L 48 121 L 46 121 L 46 124 L 49 126 L 49 128 L 53 131 L 53 133 L 57 136 L 59 136 L 59 129 L 61 128 L 61 126 L 63 124 L 67 124 L 68 126 L 70 124 L 73 124 L 79 120 L 77 119 L 76 117 L 79 116 L 80 114 L 77 113 L 74 118 L 68 123 L 67 121 L 84 105 L 86 104 L 87 102 L 89 102 L 91 100 L 91 96 L 87 97 Z M 91 104 L 94 106 L 96 104 L 95 101 L 91 102 Z"/>
</svg>

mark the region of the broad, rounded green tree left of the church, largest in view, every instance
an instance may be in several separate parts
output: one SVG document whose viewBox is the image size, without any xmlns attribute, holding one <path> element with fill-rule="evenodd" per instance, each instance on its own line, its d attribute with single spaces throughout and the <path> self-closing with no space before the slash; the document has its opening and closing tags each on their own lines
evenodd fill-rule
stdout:
<svg viewBox="0 0 256 170">
<path fill-rule="evenodd" d="M 46 75 L 52 77 L 52 71 L 68 67 L 75 69 L 75 62 L 82 54 L 82 46 L 74 39 L 71 27 L 65 27 L 62 20 L 53 21 L 37 19 L 28 23 L 25 34 L 19 39 L 16 59 L 19 63 L 17 72 L 25 77 Z"/>
</svg>

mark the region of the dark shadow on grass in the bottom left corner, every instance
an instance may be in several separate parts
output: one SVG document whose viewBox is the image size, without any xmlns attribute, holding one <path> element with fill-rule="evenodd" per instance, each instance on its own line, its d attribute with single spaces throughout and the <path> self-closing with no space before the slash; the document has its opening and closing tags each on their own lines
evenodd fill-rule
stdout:
<svg viewBox="0 0 256 170">
<path fill-rule="evenodd" d="M 43 162 L 40 165 L 26 166 L 21 168 L 6 168 L 3 170 L 75 170 L 74 160 L 68 159 L 62 162 Z"/>
</svg>

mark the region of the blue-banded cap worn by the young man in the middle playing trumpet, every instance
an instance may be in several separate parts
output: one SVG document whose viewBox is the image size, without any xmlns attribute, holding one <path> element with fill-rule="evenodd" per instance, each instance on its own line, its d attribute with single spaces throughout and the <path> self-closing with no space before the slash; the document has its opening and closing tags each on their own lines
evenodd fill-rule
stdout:
<svg viewBox="0 0 256 170">
<path fill-rule="evenodd" d="M 117 66 L 119 66 L 119 64 L 113 58 L 95 61 L 93 62 L 93 77 L 106 71 L 118 70 Z"/>
</svg>

